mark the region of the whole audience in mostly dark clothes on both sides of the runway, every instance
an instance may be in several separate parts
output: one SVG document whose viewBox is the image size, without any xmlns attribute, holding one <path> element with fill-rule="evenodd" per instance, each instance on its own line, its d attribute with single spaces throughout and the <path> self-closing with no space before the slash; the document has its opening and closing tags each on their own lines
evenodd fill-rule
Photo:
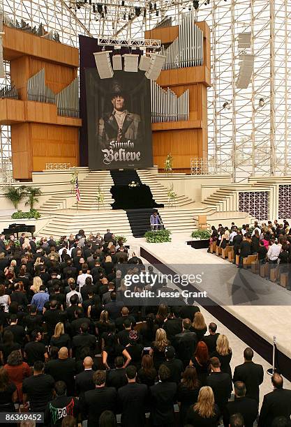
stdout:
<svg viewBox="0 0 291 427">
<path fill-rule="evenodd" d="M 243 256 L 244 242 L 252 253 L 267 241 L 267 252 L 276 237 L 279 257 L 288 230 L 288 223 L 257 224 L 251 236 L 248 226 L 232 225 L 231 232 L 213 229 L 211 239 Z M 290 426 L 291 391 L 281 375 L 271 377 L 259 413 L 264 373 L 253 350 L 244 350 L 232 372 L 227 336 L 205 324 L 193 301 L 125 304 L 124 276 L 146 268 L 110 230 L 38 243 L 22 235 L 20 246 L 1 236 L 0 251 L 0 412 L 43 412 L 47 427 L 113 427 L 117 420 L 123 427 Z M 153 291 L 160 286 L 167 283 Z"/>
</svg>

